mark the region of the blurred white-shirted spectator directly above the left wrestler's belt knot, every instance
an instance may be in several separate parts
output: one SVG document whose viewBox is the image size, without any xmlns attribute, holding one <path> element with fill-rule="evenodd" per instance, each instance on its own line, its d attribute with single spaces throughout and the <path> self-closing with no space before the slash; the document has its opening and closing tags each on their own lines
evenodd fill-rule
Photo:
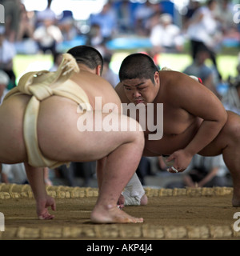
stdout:
<svg viewBox="0 0 240 256">
<path fill-rule="evenodd" d="M 34 31 L 34 40 L 44 54 L 49 51 L 54 54 L 57 44 L 62 42 L 62 32 L 51 19 L 45 19 L 43 25 Z"/>
</svg>

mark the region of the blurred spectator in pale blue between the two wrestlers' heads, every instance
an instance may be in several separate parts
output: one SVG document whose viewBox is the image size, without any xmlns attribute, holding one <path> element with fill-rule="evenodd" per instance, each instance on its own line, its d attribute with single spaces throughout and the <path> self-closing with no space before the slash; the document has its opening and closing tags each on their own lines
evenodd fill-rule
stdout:
<svg viewBox="0 0 240 256">
<path fill-rule="evenodd" d="M 103 70 L 102 70 L 102 78 L 105 78 L 107 82 L 109 82 L 114 88 L 117 86 L 119 82 L 118 74 L 115 74 L 113 70 L 110 68 L 112 56 L 106 54 L 103 57 Z"/>
</svg>

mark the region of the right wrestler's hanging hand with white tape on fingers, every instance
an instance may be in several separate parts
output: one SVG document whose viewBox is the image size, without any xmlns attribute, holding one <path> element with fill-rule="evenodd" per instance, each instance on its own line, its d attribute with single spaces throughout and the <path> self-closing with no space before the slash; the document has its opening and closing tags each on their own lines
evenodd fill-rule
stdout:
<svg viewBox="0 0 240 256">
<path fill-rule="evenodd" d="M 174 166 L 169 167 L 168 171 L 170 173 L 177 173 L 186 170 L 187 166 L 190 165 L 190 162 L 193 158 L 193 155 L 186 152 L 186 150 L 177 150 L 166 159 L 166 162 L 174 160 Z"/>
</svg>

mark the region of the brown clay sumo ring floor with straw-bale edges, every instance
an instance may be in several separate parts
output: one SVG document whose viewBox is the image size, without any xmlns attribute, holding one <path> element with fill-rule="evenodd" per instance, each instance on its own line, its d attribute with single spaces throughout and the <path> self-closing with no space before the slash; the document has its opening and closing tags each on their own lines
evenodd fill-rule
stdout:
<svg viewBox="0 0 240 256">
<path fill-rule="evenodd" d="M 53 220 L 36 218 L 30 186 L 0 184 L 0 212 L 5 230 L 0 240 L 237 240 L 240 207 L 231 206 L 232 188 L 152 189 L 146 188 L 148 206 L 127 206 L 124 210 L 144 218 L 138 224 L 90 222 L 98 189 L 48 186 L 57 202 Z"/>
</svg>

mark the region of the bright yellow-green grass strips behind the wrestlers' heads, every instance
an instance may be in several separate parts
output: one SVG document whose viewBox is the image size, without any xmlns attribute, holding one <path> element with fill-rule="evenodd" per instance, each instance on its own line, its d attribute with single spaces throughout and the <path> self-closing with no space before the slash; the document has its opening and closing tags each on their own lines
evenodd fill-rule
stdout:
<svg viewBox="0 0 240 256">
<path fill-rule="evenodd" d="M 111 62 L 111 68 L 118 73 L 123 58 L 130 52 L 118 52 L 114 54 Z M 222 74 L 222 78 L 226 79 L 229 75 L 237 74 L 236 67 L 238 65 L 237 54 L 219 54 L 217 58 L 218 68 Z M 167 66 L 172 70 L 182 71 L 186 66 L 190 65 L 191 58 L 189 54 L 159 54 L 158 63 L 161 67 Z M 210 65 L 210 62 L 208 62 Z M 49 70 L 53 65 L 50 55 L 17 55 L 14 58 L 14 72 L 18 79 L 29 71 Z"/>
</svg>

